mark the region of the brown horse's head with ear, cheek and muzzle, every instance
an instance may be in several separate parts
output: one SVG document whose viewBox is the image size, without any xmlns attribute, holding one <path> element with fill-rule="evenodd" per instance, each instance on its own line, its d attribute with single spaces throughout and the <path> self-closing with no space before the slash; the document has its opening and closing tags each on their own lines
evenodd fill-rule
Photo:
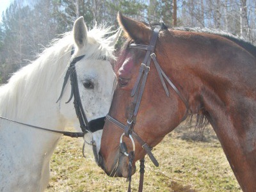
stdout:
<svg viewBox="0 0 256 192">
<path fill-rule="evenodd" d="M 118 83 L 109 115 L 122 124 L 127 124 L 134 100 L 134 97 L 131 97 L 132 88 L 136 83 L 141 62 L 147 52 L 141 49 L 132 49 L 129 45 L 131 43 L 148 45 L 153 30 L 142 22 L 128 19 L 121 14 L 118 14 L 118 22 L 125 32 L 127 42 L 120 52 L 115 69 Z M 167 35 L 169 33 L 170 31 L 167 29 L 160 31 L 154 51 L 157 61 L 164 71 L 169 71 L 172 67 L 172 60 L 169 58 L 170 52 L 164 51 L 168 50 L 166 42 L 170 41 L 170 36 Z M 156 146 L 168 132 L 179 125 L 186 115 L 186 105 L 172 88 L 168 87 L 170 96 L 166 95 L 156 67 L 152 63 L 134 125 L 134 132 L 150 147 Z M 177 88 L 180 89 L 179 85 Z M 128 158 L 120 153 L 119 147 L 120 136 L 123 133 L 122 129 L 106 120 L 100 148 L 100 166 L 110 176 L 127 177 Z M 124 136 L 123 141 L 127 145 L 128 152 L 131 151 L 131 140 Z M 135 139 L 134 141 L 136 150 L 132 173 L 135 172 L 135 162 L 146 154 L 140 143 Z"/>
</svg>

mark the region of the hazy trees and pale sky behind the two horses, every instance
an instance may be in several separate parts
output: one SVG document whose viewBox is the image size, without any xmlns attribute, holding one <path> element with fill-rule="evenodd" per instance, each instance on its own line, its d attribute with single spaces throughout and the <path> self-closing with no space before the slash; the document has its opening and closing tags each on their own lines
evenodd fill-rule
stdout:
<svg viewBox="0 0 256 192">
<path fill-rule="evenodd" d="M 255 0 L 14 0 L 1 13 L 0 83 L 72 30 L 77 17 L 91 27 L 96 20 L 118 28 L 118 11 L 147 23 L 220 29 L 256 44 Z"/>
</svg>

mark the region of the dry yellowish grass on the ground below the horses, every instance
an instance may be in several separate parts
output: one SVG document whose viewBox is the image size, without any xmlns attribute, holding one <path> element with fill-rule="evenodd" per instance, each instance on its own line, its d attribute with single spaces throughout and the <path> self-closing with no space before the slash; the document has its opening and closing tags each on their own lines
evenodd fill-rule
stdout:
<svg viewBox="0 0 256 192">
<path fill-rule="evenodd" d="M 144 191 L 241 191 L 211 127 L 204 132 L 205 141 L 182 140 L 180 126 L 154 148 L 160 166 L 145 162 Z M 186 138 L 188 138 L 186 136 Z M 108 177 L 95 163 L 86 159 L 82 144 L 64 137 L 51 161 L 51 191 L 127 191 L 124 178 Z M 136 164 L 139 167 L 139 164 Z M 132 176 L 132 191 L 138 191 L 140 174 Z"/>
</svg>

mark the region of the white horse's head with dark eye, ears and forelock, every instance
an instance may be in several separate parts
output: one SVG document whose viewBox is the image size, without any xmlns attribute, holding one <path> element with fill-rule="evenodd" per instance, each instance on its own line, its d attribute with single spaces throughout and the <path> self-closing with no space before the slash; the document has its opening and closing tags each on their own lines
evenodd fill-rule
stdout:
<svg viewBox="0 0 256 192">
<path fill-rule="evenodd" d="M 74 23 L 74 54 L 72 58 L 84 55 L 82 60 L 76 63 L 77 83 L 79 95 L 83 104 L 86 118 L 93 132 L 97 150 L 100 147 L 100 138 L 104 125 L 104 118 L 108 114 L 113 96 L 113 84 L 115 74 L 109 60 L 113 60 L 114 46 L 120 35 L 118 30 L 113 36 L 104 38 L 109 33 L 105 29 L 88 31 L 83 17 Z M 60 111 L 67 120 L 75 122 L 77 131 L 81 131 L 73 102 L 65 103 L 70 96 L 70 91 L 65 90 L 60 101 Z M 74 109 L 74 110 L 70 110 Z M 92 140 L 90 134 L 86 134 L 86 140 Z"/>
</svg>

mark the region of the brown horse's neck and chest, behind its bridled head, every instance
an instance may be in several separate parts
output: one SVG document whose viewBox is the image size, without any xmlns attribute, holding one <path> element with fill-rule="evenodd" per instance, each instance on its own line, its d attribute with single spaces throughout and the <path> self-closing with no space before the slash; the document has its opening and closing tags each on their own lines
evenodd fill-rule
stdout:
<svg viewBox="0 0 256 192">
<path fill-rule="evenodd" d="M 255 191 L 256 58 L 217 35 L 173 31 L 168 40 L 169 77 L 192 113 L 207 116 L 243 191 Z"/>
</svg>

